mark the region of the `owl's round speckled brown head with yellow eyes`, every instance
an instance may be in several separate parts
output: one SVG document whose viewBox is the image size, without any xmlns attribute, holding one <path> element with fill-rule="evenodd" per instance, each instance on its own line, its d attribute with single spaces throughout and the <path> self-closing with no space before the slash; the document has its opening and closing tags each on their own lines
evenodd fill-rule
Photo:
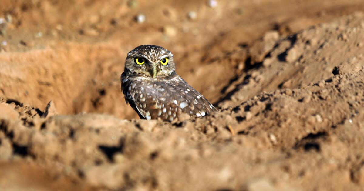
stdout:
<svg viewBox="0 0 364 191">
<path fill-rule="evenodd" d="M 175 70 L 173 54 L 155 45 L 141 45 L 128 53 L 125 68 L 139 75 L 156 79 Z"/>
</svg>

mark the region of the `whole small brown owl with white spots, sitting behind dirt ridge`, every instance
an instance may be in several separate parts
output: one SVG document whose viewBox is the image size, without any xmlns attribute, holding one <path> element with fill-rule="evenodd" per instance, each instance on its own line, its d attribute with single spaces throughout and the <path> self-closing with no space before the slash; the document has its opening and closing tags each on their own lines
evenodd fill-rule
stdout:
<svg viewBox="0 0 364 191">
<path fill-rule="evenodd" d="M 177 75 L 173 54 L 155 45 L 141 45 L 128 53 L 121 89 L 126 103 L 141 119 L 173 121 L 182 113 L 200 117 L 216 111 L 201 93 Z"/>
</svg>

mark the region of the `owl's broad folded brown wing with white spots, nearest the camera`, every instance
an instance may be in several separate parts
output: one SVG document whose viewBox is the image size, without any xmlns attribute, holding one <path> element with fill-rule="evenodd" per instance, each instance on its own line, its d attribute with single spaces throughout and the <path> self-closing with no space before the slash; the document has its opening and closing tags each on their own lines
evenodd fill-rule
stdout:
<svg viewBox="0 0 364 191">
<path fill-rule="evenodd" d="M 146 119 L 172 121 L 181 113 L 200 117 L 216 111 L 205 97 L 179 76 L 142 87 L 138 92 L 131 93 L 131 96 L 135 107 Z"/>
</svg>

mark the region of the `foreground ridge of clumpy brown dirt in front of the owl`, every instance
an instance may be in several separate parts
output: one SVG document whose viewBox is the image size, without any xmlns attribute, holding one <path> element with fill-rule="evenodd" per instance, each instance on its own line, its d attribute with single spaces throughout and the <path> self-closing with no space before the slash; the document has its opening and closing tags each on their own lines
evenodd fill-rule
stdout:
<svg viewBox="0 0 364 191">
<path fill-rule="evenodd" d="M 317 84 L 173 124 L 96 114 L 47 119 L 31 106 L 1 103 L 9 108 L 1 158 L 36 163 L 55 179 L 48 184 L 74 189 L 72 182 L 111 190 L 360 190 L 364 67 L 334 71 Z M 34 188 L 44 186 L 37 182 Z"/>
</svg>

